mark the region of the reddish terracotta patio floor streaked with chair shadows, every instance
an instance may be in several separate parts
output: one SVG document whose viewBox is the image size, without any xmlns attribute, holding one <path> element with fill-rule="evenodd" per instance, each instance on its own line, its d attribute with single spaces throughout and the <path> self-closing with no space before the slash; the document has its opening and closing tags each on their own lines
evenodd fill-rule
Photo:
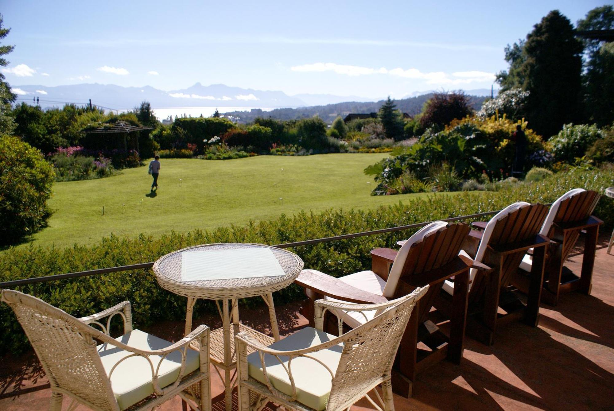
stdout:
<svg viewBox="0 0 614 411">
<path fill-rule="evenodd" d="M 395 395 L 397 410 L 614 410 L 614 256 L 606 253 L 606 237 L 600 238 L 590 296 L 570 293 L 556 307 L 542 304 L 538 328 L 506 326 L 492 347 L 467 338 L 461 365 L 442 362 L 419 374 L 413 398 Z M 580 264 L 581 256 L 567 262 L 575 272 Z M 300 304 L 277 307 L 282 334 L 306 324 Z M 254 320 L 268 318 L 264 307 L 241 316 L 247 325 L 269 331 L 268 321 Z M 198 323 L 220 326 L 213 317 Z M 147 331 L 177 339 L 182 329 L 169 322 Z M 213 408 L 222 411 L 223 386 L 211 375 Z M 33 354 L 2 359 L 0 410 L 47 409 L 49 398 L 49 382 Z M 359 405 L 370 408 L 367 402 Z M 181 403 L 176 398 L 162 409 L 181 410 Z"/>
</svg>

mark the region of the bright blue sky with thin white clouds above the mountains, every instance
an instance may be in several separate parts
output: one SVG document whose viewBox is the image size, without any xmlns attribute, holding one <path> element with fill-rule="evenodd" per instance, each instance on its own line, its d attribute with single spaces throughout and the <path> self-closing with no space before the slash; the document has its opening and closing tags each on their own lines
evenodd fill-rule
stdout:
<svg viewBox="0 0 614 411">
<path fill-rule="evenodd" d="M 287 94 L 402 98 L 490 88 L 503 48 L 558 9 L 603 1 L 3 1 L 7 81 L 224 83 Z"/>
</svg>

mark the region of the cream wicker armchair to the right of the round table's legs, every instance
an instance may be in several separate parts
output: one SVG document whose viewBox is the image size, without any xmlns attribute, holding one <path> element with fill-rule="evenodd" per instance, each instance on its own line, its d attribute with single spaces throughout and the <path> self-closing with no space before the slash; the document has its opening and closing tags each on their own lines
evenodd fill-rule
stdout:
<svg viewBox="0 0 614 411">
<path fill-rule="evenodd" d="M 411 312 L 429 287 L 379 304 L 316 301 L 316 328 L 307 327 L 268 347 L 236 336 L 239 409 L 260 410 L 269 401 L 287 409 L 344 410 L 366 397 L 376 409 L 394 410 L 391 369 Z M 326 310 L 378 315 L 339 337 L 322 331 Z M 247 355 L 248 347 L 255 350 Z M 376 386 L 382 387 L 383 398 Z"/>
</svg>

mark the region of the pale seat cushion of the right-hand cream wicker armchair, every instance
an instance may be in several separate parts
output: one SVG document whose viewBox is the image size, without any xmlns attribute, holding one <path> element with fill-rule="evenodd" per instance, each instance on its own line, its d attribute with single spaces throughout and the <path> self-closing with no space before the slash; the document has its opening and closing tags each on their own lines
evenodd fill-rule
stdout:
<svg viewBox="0 0 614 411">
<path fill-rule="evenodd" d="M 300 350 L 301 348 L 314 347 L 315 345 L 322 344 L 323 342 L 335 338 L 335 336 L 327 334 L 324 331 L 318 331 L 315 328 L 307 327 L 278 342 L 274 342 L 269 345 L 269 347 L 281 351 Z M 330 371 L 333 372 L 333 375 L 335 375 L 341 358 L 341 351 L 343 351 L 343 345 L 339 344 L 327 348 L 326 350 L 312 353 L 310 356 L 326 364 L 326 366 L 330 368 Z M 289 366 L 287 356 L 280 356 L 279 358 L 286 367 Z M 262 373 L 262 363 L 260 363 L 260 355 L 258 352 L 248 355 L 247 363 L 250 377 L 265 383 L 264 374 Z M 284 366 L 279 363 L 277 358 L 268 354 L 265 355 L 265 364 L 266 374 L 268 375 L 271 385 L 282 393 L 291 396 L 292 385 L 290 384 L 290 378 Z M 322 364 L 309 358 L 295 358 L 290 364 L 292 377 L 294 378 L 294 383 L 297 388 L 297 401 L 315 410 L 326 409 L 333 379 L 330 372 L 328 372 Z"/>
</svg>

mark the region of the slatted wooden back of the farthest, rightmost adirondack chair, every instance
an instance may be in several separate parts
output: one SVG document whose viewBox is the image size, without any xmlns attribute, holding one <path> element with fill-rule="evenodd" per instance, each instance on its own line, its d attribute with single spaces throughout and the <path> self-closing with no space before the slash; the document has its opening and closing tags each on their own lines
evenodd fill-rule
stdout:
<svg viewBox="0 0 614 411">
<path fill-rule="evenodd" d="M 564 199 L 561 201 L 561 204 L 559 204 L 559 209 L 556 215 L 554 215 L 553 224 L 550 226 L 548 234 L 545 234 L 545 236 L 561 242 L 561 261 L 565 261 L 567 255 L 569 255 L 569 252 L 576 244 L 580 236 L 581 228 L 565 230 L 564 234 L 559 234 L 556 230 L 557 225 L 569 225 L 575 222 L 578 223 L 578 226 L 583 225 L 586 219 L 593 213 L 599 198 L 600 195 L 597 191 L 582 191 L 570 198 Z M 542 234 L 544 233 L 542 232 Z"/>
</svg>

